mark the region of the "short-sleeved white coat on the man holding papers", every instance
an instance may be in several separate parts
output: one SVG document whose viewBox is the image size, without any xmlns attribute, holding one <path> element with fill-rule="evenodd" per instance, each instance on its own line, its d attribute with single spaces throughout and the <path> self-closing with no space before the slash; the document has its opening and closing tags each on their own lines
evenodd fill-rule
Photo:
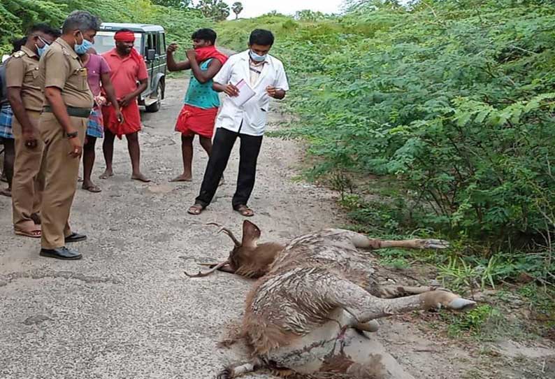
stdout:
<svg viewBox="0 0 555 379">
<path fill-rule="evenodd" d="M 236 85 L 242 79 L 246 83 L 250 83 L 249 60 L 249 50 L 231 55 L 213 80 L 222 85 L 229 83 Z M 266 55 L 266 62 L 259 78 L 254 85 L 251 85 L 256 94 L 243 106 L 236 106 L 229 96 L 225 95 L 216 119 L 216 127 L 249 136 L 264 134 L 268 104 L 270 103 L 270 95 L 266 92 L 266 87 L 272 86 L 284 91 L 289 90 L 282 62 L 271 55 Z"/>
</svg>

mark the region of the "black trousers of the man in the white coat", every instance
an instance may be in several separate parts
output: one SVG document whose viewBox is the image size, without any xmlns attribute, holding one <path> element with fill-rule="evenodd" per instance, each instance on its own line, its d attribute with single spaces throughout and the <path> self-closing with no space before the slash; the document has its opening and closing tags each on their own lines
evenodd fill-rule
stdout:
<svg viewBox="0 0 555 379">
<path fill-rule="evenodd" d="M 248 136 L 224 128 L 216 129 L 216 135 L 212 143 L 212 154 L 210 154 L 208 166 L 206 166 L 204 172 L 201 193 L 196 198 L 195 203 L 206 207 L 214 198 L 219 180 L 226 169 L 229 155 L 231 155 L 231 150 L 237 138 L 241 141 L 239 174 L 232 206 L 233 209 L 236 209 L 240 205 L 247 205 L 254 188 L 254 178 L 257 175 L 257 159 L 262 145 L 262 136 Z"/>
</svg>

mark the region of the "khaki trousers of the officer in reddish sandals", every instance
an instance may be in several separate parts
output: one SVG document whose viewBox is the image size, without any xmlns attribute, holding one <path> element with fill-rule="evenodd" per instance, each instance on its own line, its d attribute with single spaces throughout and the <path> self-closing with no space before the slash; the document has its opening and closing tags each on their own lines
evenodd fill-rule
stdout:
<svg viewBox="0 0 555 379">
<path fill-rule="evenodd" d="M 31 121 L 38 124 L 40 112 L 27 110 Z M 44 190 L 43 150 L 44 143 L 40 128 L 36 148 L 25 146 L 21 124 L 13 117 L 12 132 L 15 140 L 15 161 L 13 164 L 12 207 L 13 227 L 19 231 L 35 230 L 33 213 L 41 211 Z"/>
</svg>

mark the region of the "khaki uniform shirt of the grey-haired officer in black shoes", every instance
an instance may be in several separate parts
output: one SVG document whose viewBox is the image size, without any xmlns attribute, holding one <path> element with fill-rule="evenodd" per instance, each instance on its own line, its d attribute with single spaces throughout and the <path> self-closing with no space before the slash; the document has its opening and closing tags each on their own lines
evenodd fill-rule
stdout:
<svg viewBox="0 0 555 379">
<path fill-rule="evenodd" d="M 62 38 L 58 38 L 44 53 L 38 66 L 43 88 L 57 87 L 62 90 L 66 106 L 92 108 L 94 97 L 87 81 L 87 69 L 82 66 L 75 50 Z M 44 105 L 50 106 L 48 99 Z"/>
</svg>

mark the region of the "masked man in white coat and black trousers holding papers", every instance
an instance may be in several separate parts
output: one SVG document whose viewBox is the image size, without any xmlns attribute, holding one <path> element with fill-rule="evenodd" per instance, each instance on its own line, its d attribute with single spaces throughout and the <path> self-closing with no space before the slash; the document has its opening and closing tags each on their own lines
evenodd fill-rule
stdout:
<svg viewBox="0 0 555 379">
<path fill-rule="evenodd" d="M 283 99 L 289 90 L 282 62 L 268 55 L 273 41 L 271 31 L 255 29 L 250 34 L 249 49 L 229 57 L 213 79 L 214 90 L 225 92 L 226 96 L 216 120 L 212 155 L 208 159 L 201 192 L 187 210 L 192 215 L 199 215 L 212 201 L 237 138 L 241 141 L 239 175 L 231 205 L 243 216 L 254 215 L 247 203 L 257 173 L 268 104 L 271 97 Z M 244 83 L 239 84 L 242 80 Z M 245 83 L 252 88 L 254 96 L 238 106 L 233 97 L 239 95 L 238 87 L 245 88 Z"/>
</svg>

